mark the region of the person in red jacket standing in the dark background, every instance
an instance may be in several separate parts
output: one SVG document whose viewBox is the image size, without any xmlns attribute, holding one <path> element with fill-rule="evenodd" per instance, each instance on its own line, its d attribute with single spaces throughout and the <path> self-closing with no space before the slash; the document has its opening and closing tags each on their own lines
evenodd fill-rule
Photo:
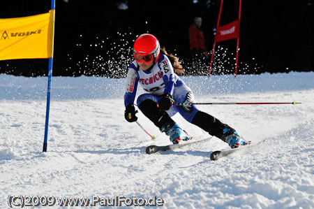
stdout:
<svg viewBox="0 0 314 209">
<path fill-rule="evenodd" d="M 190 51 L 192 52 L 192 55 L 200 55 L 204 53 L 204 56 L 208 57 L 204 34 L 200 29 L 201 25 L 202 17 L 195 17 L 194 23 L 191 24 L 188 29 L 190 38 Z"/>
</svg>

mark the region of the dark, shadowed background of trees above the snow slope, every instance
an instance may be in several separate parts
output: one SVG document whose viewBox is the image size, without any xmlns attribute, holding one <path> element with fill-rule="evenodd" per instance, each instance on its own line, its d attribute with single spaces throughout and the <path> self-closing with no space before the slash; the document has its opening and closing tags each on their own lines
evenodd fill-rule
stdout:
<svg viewBox="0 0 314 209">
<path fill-rule="evenodd" d="M 220 0 L 57 0 L 53 75 L 120 78 L 133 59 L 133 41 L 147 32 L 182 60 L 187 75 L 206 75 L 209 60 L 190 62 L 188 27 L 202 17 L 211 52 L 219 7 Z M 237 20 L 238 8 L 239 0 L 225 0 L 220 25 Z M 48 10 L 50 0 L 3 1 L 0 18 Z M 239 73 L 313 71 L 313 38 L 313 0 L 242 0 Z M 235 49 L 235 39 L 216 45 L 214 73 L 234 72 Z M 7 60 L 0 73 L 41 76 L 47 66 L 47 59 Z"/>
</svg>

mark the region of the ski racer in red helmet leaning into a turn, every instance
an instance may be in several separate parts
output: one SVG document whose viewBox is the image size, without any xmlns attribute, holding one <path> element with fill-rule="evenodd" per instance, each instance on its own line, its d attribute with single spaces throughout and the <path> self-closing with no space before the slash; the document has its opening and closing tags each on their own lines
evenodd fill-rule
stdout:
<svg viewBox="0 0 314 209">
<path fill-rule="evenodd" d="M 142 34 L 134 43 L 135 60 L 130 64 L 126 78 L 126 93 L 124 116 L 128 122 L 137 121 L 134 100 L 137 84 L 140 83 L 146 94 L 137 98 L 137 107 L 154 122 L 161 132 L 170 136 L 172 143 L 189 140 L 186 131 L 172 120 L 172 116 L 180 113 L 188 122 L 225 141 L 232 148 L 247 145 L 237 132 L 215 117 L 197 109 L 197 106 L 172 106 L 178 103 L 192 103 L 194 94 L 179 76 L 174 73 L 184 73 L 184 69 L 174 55 L 167 55 L 164 48 L 160 49 L 158 39 L 151 34 Z M 171 60 L 171 62 L 170 62 Z"/>
</svg>

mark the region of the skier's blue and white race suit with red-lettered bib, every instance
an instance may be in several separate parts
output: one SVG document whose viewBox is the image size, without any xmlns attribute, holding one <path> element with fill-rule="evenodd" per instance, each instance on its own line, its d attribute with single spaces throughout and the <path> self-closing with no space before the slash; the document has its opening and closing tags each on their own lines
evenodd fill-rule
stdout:
<svg viewBox="0 0 314 209">
<path fill-rule="evenodd" d="M 136 61 L 133 61 L 128 69 L 126 77 L 126 93 L 124 94 L 124 105 L 134 103 L 137 85 L 140 83 L 145 94 L 137 98 L 137 106 L 142 101 L 151 99 L 158 103 L 162 94 L 171 94 L 174 101 L 178 103 L 190 103 L 194 100 L 194 94 L 186 86 L 185 82 L 174 73 L 172 64 L 166 55 L 160 54 L 158 61 L 147 71 L 143 71 Z M 192 106 L 172 106 L 166 112 L 170 117 L 180 113 L 188 122 L 192 122 L 198 109 Z"/>
</svg>

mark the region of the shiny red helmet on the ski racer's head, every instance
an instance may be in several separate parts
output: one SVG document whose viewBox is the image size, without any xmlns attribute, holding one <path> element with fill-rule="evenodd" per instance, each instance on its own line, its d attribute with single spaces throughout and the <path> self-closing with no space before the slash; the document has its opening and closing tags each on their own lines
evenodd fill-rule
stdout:
<svg viewBox="0 0 314 209">
<path fill-rule="evenodd" d="M 138 36 L 134 43 L 134 58 L 136 62 L 156 63 L 160 55 L 160 45 L 158 39 L 151 34 Z"/>
</svg>

